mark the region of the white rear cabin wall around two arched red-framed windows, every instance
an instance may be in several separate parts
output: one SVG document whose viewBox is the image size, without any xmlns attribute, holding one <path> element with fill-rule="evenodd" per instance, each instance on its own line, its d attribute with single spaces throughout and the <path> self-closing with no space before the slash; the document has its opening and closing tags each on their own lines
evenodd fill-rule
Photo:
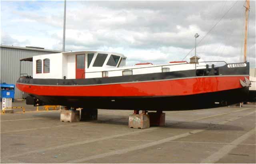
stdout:
<svg viewBox="0 0 256 164">
<path fill-rule="evenodd" d="M 42 73 L 36 73 L 36 60 L 42 60 Z M 44 73 L 44 59 L 50 59 L 50 73 Z M 33 57 L 33 78 L 62 79 L 62 53 L 38 55 Z"/>
</svg>

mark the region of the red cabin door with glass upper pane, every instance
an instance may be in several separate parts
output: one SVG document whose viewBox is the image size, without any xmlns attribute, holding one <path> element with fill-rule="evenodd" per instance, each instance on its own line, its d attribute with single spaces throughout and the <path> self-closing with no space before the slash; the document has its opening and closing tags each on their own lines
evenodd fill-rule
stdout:
<svg viewBox="0 0 256 164">
<path fill-rule="evenodd" d="M 76 55 L 76 79 L 85 78 L 85 54 Z"/>
</svg>

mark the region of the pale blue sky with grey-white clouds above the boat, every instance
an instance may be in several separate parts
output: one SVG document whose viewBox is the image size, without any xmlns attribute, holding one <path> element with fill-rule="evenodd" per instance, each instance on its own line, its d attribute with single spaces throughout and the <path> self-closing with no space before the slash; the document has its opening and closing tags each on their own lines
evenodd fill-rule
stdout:
<svg viewBox="0 0 256 164">
<path fill-rule="evenodd" d="M 194 48 L 198 33 L 197 54 L 204 61 L 239 62 L 244 5 L 244 0 L 68 0 L 66 50 L 112 51 L 126 55 L 128 65 L 159 64 L 182 60 Z M 1 1 L 1 43 L 61 50 L 63 11 L 64 1 Z M 248 34 L 247 60 L 255 67 L 255 1 L 250 1 Z M 194 50 L 185 60 L 192 55 Z"/>
</svg>

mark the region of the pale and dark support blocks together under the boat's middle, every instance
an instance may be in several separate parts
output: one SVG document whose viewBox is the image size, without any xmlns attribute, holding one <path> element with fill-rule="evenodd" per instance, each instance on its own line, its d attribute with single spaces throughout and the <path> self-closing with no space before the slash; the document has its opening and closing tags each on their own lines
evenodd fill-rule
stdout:
<svg viewBox="0 0 256 164">
<path fill-rule="evenodd" d="M 132 115 L 129 115 L 129 128 L 149 128 L 150 126 L 164 126 L 165 125 L 165 113 L 162 111 L 149 112 L 134 110 Z"/>
</svg>

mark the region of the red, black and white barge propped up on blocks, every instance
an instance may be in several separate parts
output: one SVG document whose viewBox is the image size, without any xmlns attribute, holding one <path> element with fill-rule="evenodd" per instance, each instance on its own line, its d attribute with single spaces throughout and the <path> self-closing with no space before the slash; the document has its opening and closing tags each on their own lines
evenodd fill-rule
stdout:
<svg viewBox="0 0 256 164">
<path fill-rule="evenodd" d="M 37 55 L 33 76 L 16 86 L 30 105 L 172 111 L 222 107 L 245 101 L 249 63 L 198 62 L 197 58 L 126 66 L 120 53 L 72 51 Z M 215 64 L 213 64 L 215 63 Z"/>
</svg>

